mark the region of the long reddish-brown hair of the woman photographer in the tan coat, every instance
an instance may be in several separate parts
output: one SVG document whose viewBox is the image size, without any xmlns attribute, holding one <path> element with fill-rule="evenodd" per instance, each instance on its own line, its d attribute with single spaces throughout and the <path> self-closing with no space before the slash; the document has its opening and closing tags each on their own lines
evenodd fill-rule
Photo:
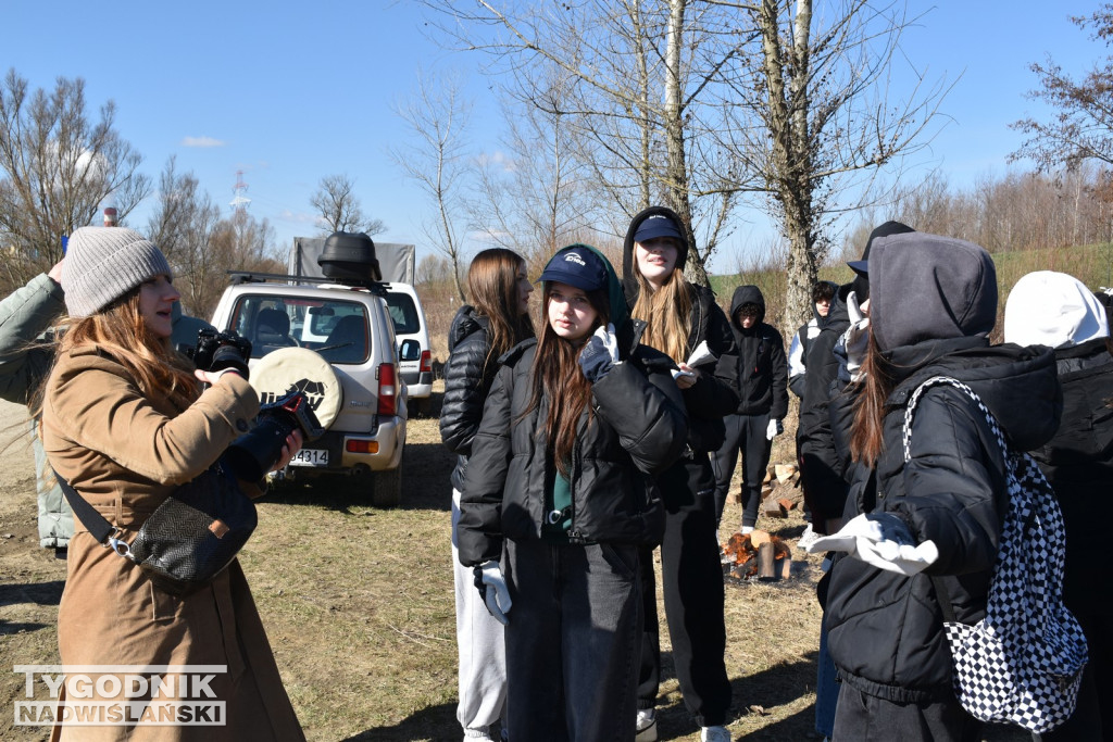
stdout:
<svg viewBox="0 0 1113 742">
<path fill-rule="evenodd" d="M 93 346 L 111 356 L 135 378 L 151 399 L 168 398 L 180 409 L 200 390 L 194 369 L 170 349 L 169 338 L 157 337 L 139 311 L 139 288 L 128 291 L 102 311 L 72 320 L 58 342 L 58 356 L 79 346 Z M 41 413 L 46 384 L 36 394 L 33 409 Z"/>
</svg>

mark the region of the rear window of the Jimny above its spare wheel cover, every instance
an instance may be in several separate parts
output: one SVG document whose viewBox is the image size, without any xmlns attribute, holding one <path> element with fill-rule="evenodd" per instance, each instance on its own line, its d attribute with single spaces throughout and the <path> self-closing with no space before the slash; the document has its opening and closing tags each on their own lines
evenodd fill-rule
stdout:
<svg viewBox="0 0 1113 742">
<path fill-rule="evenodd" d="M 358 364 L 371 353 L 367 308 L 358 301 L 246 295 L 232 329 L 252 342 L 252 357 L 278 348 L 316 350 L 334 364 Z"/>
</svg>

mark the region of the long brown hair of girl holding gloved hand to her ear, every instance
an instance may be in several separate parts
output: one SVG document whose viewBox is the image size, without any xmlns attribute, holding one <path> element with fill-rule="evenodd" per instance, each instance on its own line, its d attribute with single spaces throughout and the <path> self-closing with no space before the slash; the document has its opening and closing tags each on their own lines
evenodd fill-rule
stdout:
<svg viewBox="0 0 1113 742">
<path fill-rule="evenodd" d="M 541 316 L 544 330 L 538 340 L 533 357 L 533 393 L 526 414 L 541 405 L 542 397 L 549 400 L 545 415 L 545 438 L 548 451 L 564 476 L 572 471 L 572 448 L 575 445 L 575 426 L 584 407 L 591 415 L 591 383 L 580 370 L 580 352 L 583 343 L 565 340 L 553 332 L 549 324 L 549 301 L 553 281 L 544 283 L 541 298 Z M 610 301 L 605 289 L 584 291 L 588 301 L 599 313 L 595 327 L 610 321 Z M 590 336 L 589 336 L 590 337 Z"/>
</svg>

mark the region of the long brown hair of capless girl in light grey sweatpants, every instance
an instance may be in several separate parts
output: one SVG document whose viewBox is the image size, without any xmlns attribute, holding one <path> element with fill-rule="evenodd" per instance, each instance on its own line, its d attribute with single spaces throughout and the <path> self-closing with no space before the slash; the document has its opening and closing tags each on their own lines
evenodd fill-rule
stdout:
<svg viewBox="0 0 1113 742">
<path fill-rule="evenodd" d="M 483 378 L 493 375 L 494 362 L 528 337 L 533 337 L 530 313 L 518 310 L 518 271 L 525 260 L 518 253 L 493 247 L 472 258 L 467 291 L 475 311 L 487 318 L 491 349 L 483 360 Z"/>
</svg>

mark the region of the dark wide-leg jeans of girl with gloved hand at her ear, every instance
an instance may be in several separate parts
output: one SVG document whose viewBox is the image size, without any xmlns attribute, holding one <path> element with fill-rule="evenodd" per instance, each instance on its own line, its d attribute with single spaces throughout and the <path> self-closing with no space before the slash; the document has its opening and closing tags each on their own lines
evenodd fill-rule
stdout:
<svg viewBox="0 0 1113 742">
<path fill-rule="evenodd" d="M 638 550 L 506 542 L 512 740 L 633 740 L 642 627 Z"/>
</svg>

